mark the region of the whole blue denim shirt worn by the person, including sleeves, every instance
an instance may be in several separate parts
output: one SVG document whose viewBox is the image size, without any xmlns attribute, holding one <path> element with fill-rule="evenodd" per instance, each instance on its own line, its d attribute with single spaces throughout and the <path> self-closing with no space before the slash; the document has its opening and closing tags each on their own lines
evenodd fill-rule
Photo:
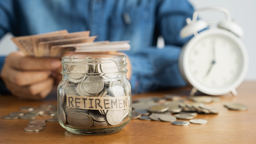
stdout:
<svg viewBox="0 0 256 144">
<path fill-rule="evenodd" d="M 130 40 L 124 52 L 137 93 L 185 85 L 177 59 L 186 39 L 179 31 L 193 10 L 187 0 L 0 0 L 0 37 L 8 31 L 21 36 L 67 29 L 90 30 L 98 35 L 95 41 Z M 159 35 L 162 49 L 156 47 Z"/>
</svg>

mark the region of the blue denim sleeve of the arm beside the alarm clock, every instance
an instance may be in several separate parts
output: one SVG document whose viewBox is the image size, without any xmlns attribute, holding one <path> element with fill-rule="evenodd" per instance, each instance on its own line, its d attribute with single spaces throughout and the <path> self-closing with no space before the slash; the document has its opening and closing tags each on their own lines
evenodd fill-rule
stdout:
<svg viewBox="0 0 256 144">
<path fill-rule="evenodd" d="M 178 57 L 187 38 L 180 38 L 179 31 L 194 9 L 187 0 L 161 0 L 156 10 L 154 37 L 163 36 L 165 47 L 124 52 L 131 62 L 132 93 L 186 85 L 178 69 Z"/>
</svg>

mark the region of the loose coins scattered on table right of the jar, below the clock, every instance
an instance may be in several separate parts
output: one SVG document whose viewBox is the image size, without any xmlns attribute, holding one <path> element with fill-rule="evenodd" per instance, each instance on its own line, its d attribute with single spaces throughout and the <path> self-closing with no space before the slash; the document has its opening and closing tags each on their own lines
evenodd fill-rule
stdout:
<svg viewBox="0 0 256 144">
<path fill-rule="evenodd" d="M 163 98 L 139 98 L 132 102 L 132 119 L 155 120 L 172 122 L 174 125 L 189 125 L 191 123 L 204 124 L 205 119 L 193 119 L 197 113 L 217 114 L 218 110 L 207 107 L 204 103 L 219 101 L 218 97 L 194 96 L 183 99 L 178 95 L 166 94 Z M 240 103 L 225 103 L 229 109 L 245 110 L 246 105 Z M 174 114 L 174 115 L 171 115 Z M 176 119 L 190 119 L 188 121 Z"/>
</svg>

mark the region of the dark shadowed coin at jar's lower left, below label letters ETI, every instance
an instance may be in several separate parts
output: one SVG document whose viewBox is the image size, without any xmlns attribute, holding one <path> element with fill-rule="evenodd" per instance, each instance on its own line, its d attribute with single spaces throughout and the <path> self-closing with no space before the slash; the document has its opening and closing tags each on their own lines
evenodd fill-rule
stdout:
<svg viewBox="0 0 256 144">
<path fill-rule="evenodd" d="M 91 127 L 93 121 L 87 113 L 77 113 L 73 117 L 73 123 L 77 127 Z"/>
</svg>

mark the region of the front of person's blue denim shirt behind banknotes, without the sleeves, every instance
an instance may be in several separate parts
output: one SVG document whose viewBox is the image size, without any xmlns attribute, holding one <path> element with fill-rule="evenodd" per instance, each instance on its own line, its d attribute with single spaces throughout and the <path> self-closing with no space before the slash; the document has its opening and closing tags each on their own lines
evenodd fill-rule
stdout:
<svg viewBox="0 0 256 144">
<path fill-rule="evenodd" d="M 130 40 L 131 51 L 152 45 L 156 0 L 18 0 L 15 36 L 90 30 L 95 41 Z"/>
</svg>

